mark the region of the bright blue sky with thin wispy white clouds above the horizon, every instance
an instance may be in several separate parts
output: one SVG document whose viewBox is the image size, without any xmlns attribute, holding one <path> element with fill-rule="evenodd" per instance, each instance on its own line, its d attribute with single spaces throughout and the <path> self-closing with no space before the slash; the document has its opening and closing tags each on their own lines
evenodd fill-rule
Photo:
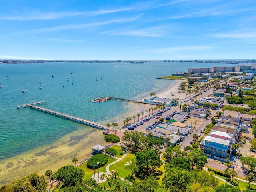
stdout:
<svg viewBox="0 0 256 192">
<path fill-rule="evenodd" d="M 0 1 L 0 59 L 255 58 L 255 0 Z"/>
</svg>

